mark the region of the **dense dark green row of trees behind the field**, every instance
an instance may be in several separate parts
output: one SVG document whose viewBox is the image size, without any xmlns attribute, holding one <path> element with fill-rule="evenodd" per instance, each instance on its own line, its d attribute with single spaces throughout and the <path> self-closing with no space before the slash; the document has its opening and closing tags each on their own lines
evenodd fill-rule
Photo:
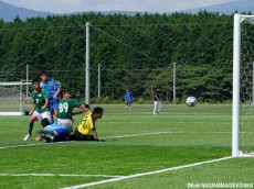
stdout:
<svg viewBox="0 0 254 189">
<path fill-rule="evenodd" d="M 220 102 L 232 96 L 233 15 L 80 14 L 13 22 L 0 21 L 0 80 L 30 79 L 46 70 L 62 88 L 85 92 L 85 24 L 91 23 L 92 98 L 123 100 L 126 88 L 136 99 L 150 100 L 161 88 L 172 100 L 173 63 L 177 99 L 195 96 Z"/>
</svg>

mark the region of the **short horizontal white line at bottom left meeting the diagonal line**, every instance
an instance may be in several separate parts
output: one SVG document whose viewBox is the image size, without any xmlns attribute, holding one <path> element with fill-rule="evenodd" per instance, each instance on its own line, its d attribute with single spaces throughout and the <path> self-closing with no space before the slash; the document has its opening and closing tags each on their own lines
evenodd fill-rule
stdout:
<svg viewBox="0 0 254 189">
<path fill-rule="evenodd" d="M 0 177 L 106 177 L 120 178 L 123 176 L 112 175 L 77 175 L 77 174 L 0 174 Z"/>
</svg>

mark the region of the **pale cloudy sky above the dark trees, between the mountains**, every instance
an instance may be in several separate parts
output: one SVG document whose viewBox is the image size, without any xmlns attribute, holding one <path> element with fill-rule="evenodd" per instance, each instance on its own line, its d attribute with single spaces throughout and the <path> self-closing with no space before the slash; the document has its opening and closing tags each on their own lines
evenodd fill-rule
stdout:
<svg viewBox="0 0 254 189">
<path fill-rule="evenodd" d="M 235 0 L 1 0 L 3 2 L 52 13 L 82 11 L 171 12 Z"/>
</svg>

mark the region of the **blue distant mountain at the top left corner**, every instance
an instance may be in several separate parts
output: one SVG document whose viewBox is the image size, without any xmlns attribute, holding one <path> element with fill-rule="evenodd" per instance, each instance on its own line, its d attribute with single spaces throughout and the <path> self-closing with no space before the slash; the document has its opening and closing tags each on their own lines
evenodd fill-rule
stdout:
<svg viewBox="0 0 254 189">
<path fill-rule="evenodd" d="M 17 15 L 21 20 L 25 20 L 28 18 L 53 15 L 53 13 L 18 8 L 0 1 L 0 19 L 4 22 L 11 22 Z"/>
</svg>

